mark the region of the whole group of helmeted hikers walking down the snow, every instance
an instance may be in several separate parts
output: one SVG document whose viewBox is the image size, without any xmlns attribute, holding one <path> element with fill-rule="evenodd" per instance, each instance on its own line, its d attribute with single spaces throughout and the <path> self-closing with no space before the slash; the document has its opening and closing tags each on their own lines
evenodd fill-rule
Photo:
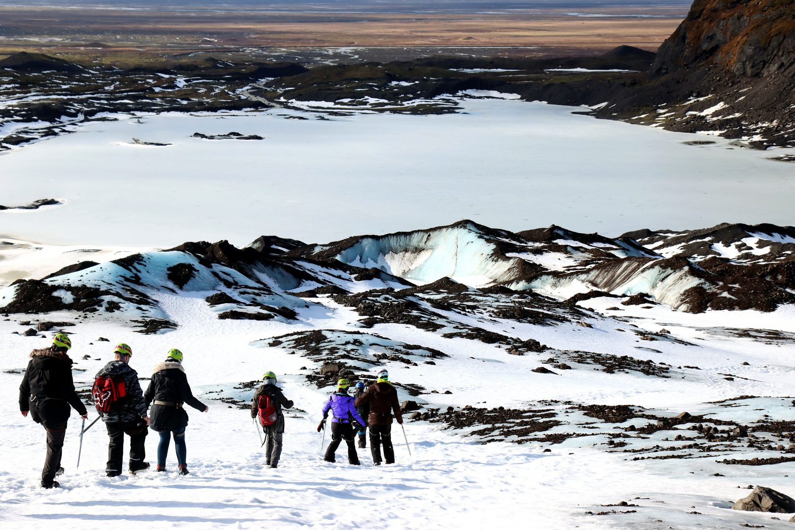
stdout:
<svg viewBox="0 0 795 530">
<path fill-rule="evenodd" d="M 42 488 L 59 486 L 55 478 L 64 472 L 60 460 L 71 408 L 80 414 L 83 424 L 88 418 L 86 407 L 78 397 L 72 380 L 73 362 L 68 354 L 71 348 L 72 340 L 68 335 L 59 333 L 52 339 L 49 348 L 33 350 L 19 386 L 22 416 L 30 414 L 33 421 L 45 427 L 47 433 L 47 456 L 41 471 Z M 95 407 L 110 438 L 105 472 L 108 477 L 122 474 L 124 435 L 130 436 L 129 472 L 136 474 L 149 469 L 149 462 L 145 462 L 145 440 L 151 428 L 160 435 L 157 471 L 166 471 L 166 456 L 173 437 L 179 473 L 188 474 L 185 446 L 188 413 L 184 405 L 188 404 L 201 412 L 209 411 L 209 407 L 193 396 L 182 366 L 183 355 L 180 350 L 169 350 L 165 361 L 154 366 L 145 392 L 138 381 L 138 372 L 129 364 L 132 355 L 130 346 L 118 344 L 114 348 L 114 360 L 97 372 L 91 388 Z M 293 408 L 293 401 L 285 397 L 276 383 L 276 375 L 266 372 L 262 376 L 262 385 L 254 392 L 251 404 L 251 417 L 258 418 L 258 424 L 266 435 L 262 445 L 267 443 L 266 466 L 271 468 L 276 468 L 281 458 L 285 431 L 281 409 Z M 355 441 L 358 435 L 359 447 L 366 447 L 366 429 L 369 427 L 374 465 L 382 463 L 382 446 L 386 463 L 394 463 L 391 439 L 393 412 L 398 424 L 403 424 L 403 418 L 397 391 L 389 381 L 389 373 L 386 369 L 381 370 L 378 380 L 367 388 L 362 381 L 357 382 L 353 396 L 348 393 L 350 386 L 350 381 L 340 379 L 336 392 L 324 405 L 318 432 L 324 430 L 328 415 L 332 414 L 332 441 L 324 460 L 335 462 L 335 451 L 345 439 L 348 463 L 358 466 Z M 83 427 L 81 435 L 85 431 L 87 428 Z"/>
</svg>

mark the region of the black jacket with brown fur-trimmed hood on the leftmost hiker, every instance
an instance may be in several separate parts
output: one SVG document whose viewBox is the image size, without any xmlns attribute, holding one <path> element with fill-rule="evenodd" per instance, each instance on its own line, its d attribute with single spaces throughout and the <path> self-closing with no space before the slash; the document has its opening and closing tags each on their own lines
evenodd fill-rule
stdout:
<svg viewBox="0 0 795 530">
<path fill-rule="evenodd" d="M 86 406 L 75 393 L 72 359 L 51 349 L 33 350 L 30 357 L 19 385 L 19 410 L 29 411 L 30 397 L 40 395 L 68 402 L 80 416 L 87 414 Z"/>
</svg>

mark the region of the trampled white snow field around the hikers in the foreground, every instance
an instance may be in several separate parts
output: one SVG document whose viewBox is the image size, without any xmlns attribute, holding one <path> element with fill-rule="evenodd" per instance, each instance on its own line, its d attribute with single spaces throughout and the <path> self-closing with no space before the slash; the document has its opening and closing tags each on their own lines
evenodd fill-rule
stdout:
<svg viewBox="0 0 795 530">
<path fill-rule="evenodd" d="M 758 467 L 725 466 L 715 463 L 716 458 L 625 462 L 624 458 L 631 454 L 627 457 L 620 452 L 605 452 L 603 435 L 568 439 L 551 446 L 480 445 L 462 437 L 460 431 L 440 430 L 442 424 L 426 422 L 406 423 L 411 457 L 394 425 L 394 466 L 370 466 L 369 450 L 359 450 L 361 467 L 348 466 L 343 450 L 337 451 L 338 463 L 322 462 L 321 436 L 316 425 L 331 389 L 317 390 L 305 385 L 303 377 L 295 374 L 301 373 L 301 366 L 311 367 L 312 363 L 281 347 L 262 347 L 259 339 L 301 329 L 360 329 L 355 327 L 353 315 L 345 311 L 332 313 L 334 304 L 328 301 L 328 313 L 315 309 L 298 324 L 219 321 L 202 300 L 204 294 L 196 292 L 196 297 L 189 297 L 160 293 L 161 307 L 170 319 L 180 323 L 178 329 L 162 335 L 139 335 L 111 323 L 80 323 L 69 328 L 74 331 L 72 354 L 77 360 L 76 369 L 86 370 L 76 372 L 76 380 L 81 382 L 90 381 L 93 373 L 110 360 L 116 342 L 128 342 L 133 347 L 131 364 L 141 377 L 148 377 L 150 367 L 171 347 L 183 350 L 188 380 L 200 400 L 210 404 L 208 414 L 188 410 L 188 465 L 192 470 L 188 477 L 177 477 L 174 471 L 166 475 L 150 471 L 134 477 L 105 478 L 107 437 L 101 423 L 87 432 L 81 467 L 76 471 L 80 420 L 73 415 L 64 446 L 64 488 L 38 489 L 44 433 L 40 426 L 19 415 L 16 397 L 21 376 L 5 370 L 23 368 L 27 352 L 48 340 L 12 335 L 10 331 L 24 328 L 12 321 L 0 322 L 0 368 L 4 370 L 0 373 L 0 418 L 6 434 L 0 445 L 2 454 L 10 455 L 0 462 L 0 518 L 5 528 L 30 528 L 45 520 L 57 520 L 64 528 L 83 528 L 111 517 L 145 523 L 150 528 L 473 528 L 493 524 L 494 520 L 522 528 L 696 528 L 697 524 L 733 528 L 740 523 L 778 528 L 775 525 L 779 523 L 770 520 L 770 514 L 731 511 L 729 501 L 747 494 L 746 490 L 737 489 L 747 484 L 760 483 L 792 493 L 784 475 L 795 476 L 793 462 Z M 587 300 L 580 305 L 601 308 L 600 304 L 610 304 L 611 300 L 615 299 Z M 790 315 L 779 311 L 781 315 L 752 311 L 731 311 L 730 315 L 746 323 L 758 318 L 769 327 L 791 329 Z M 622 316 L 651 330 L 662 323 L 671 329 L 673 323 L 671 331 L 681 339 L 692 342 L 696 335 L 704 335 L 708 340 L 700 347 L 644 341 L 644 346 L 664 352 L 646 355 L 634 350 L 636 343 L 628 323 L 608 319 L 589 319 L 593 329 L 517 323 L 512 323 L 514 330 L 509 326 L 505 329 L 512 336 L 533 337 L 554 347 L 630 355 L 634 350 L 635 357 L 650 357 L 673 366 L 695 362 L 701 371 L 688 372 L 684 379 L 661 379 L 578 367 L 555 376 L 529 371 L 539 366 L 547 354 L 517 357 L 491 345 L 443 339 L 397 324 L 379 325 L 367 332 L 437 347 L 451 354 L 451 358 L 438 360 L 436 366 L 405 369 L 387 362 L 394 381 L 414 382 L 440 392 L 451 390 L 451 395 L 423 394 L 413 398 L 429 401 L 433 406 L 511 407 L 556 399 L 585 404 L 638 404 L 657 408 L 663 415 L 668 411 L 670 416 L 681 410 L 692 414 L 714 410 L 726 419 L 752 420 L 763 412 L 747 410 L 750 407 L 741 408 L 740 412 L 721 409 L 704 401 L 746 393 L 793 395 L 795 389 L 789 377 L 792 368 L 785 365 L 785 359 L 795 353 L 791 344 L 772 346 L 748 339 L 716 339 L 698 331 L 708 329 L 711 319 L 727 323 L 723 315 L 714 312 L 688 315 L 657 306 L 651 310 L 630 306 Z M 67 319 L 68 315 L 48 315 L 48 319 L 62 318 Z M 619 332 L 614 327 L 630 331 Z M 99 336 L 111 342 L 96 342 Z M 83 360 L 83 354 L 91 355 L 91 359 Z M 743 366 L 746 371 L 740 373 L 743 360 L 748 360 L 750 366 Z M 768 368 L 763 368 L 763 364 Z M 234 387 L 239 382 L 258 379 L 267 369 L 279 375 L 285 394 L 296 401 L 297 408 L 306 411 L 286 414 L 285 449 L 277 470 L 263 469 L 265 455 L 258 448 L 249 412 L 211 400 L 218 395 L 250 397 L 250 390 Z M 729 369 L 754 381 L 725 381 L 718 373 Z M 216 394 L 218 390 L 223 394 Z M 409 398 L 402 392 L 400 397 Z M 487 404 L 479 404 L 483 401 Z M 781 408 L 781 403 L 789 405 L 789 401 L 771 399 L 766 412 L 780 420 L 795 419 L 795 413 Z M 95 417 L 95 412 L 90 412 L 90 416 Z M 607 424 L 598 432 L 611 427 Z M 559 426 L 554 431 L 578 428 L 583 427 Z M 663 433 L 656 437 L 642 445 L 664 444 L 658 442 Z M 150 433 L 149 462 L 154 462 L 156 447 L 157 436 Z M 542 452 L 546 447 L 552 452 Z M 173 470 L 174 466 L 172 449 L 169 467 Z M 725 477 L 711 476 L 715 473 Z M 634 497 L 648 499 L 633 500 Z M 642 507 L 600 506 L 619 501 Z M 613 509 L 636 511 L 586 514 Z M 692 511 L 700 515 L 689 513 Z M 785 524 L 782 520 L 781 528 Z"/>
</svg>

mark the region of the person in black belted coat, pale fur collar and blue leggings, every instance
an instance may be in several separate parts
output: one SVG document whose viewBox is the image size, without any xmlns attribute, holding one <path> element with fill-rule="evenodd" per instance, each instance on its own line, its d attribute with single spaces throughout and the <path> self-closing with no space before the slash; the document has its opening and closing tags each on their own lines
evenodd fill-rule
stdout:
<svg viewBox="0 0 795 530">
<path fill-rule="evenodd" d="M 164 362 L 158 362 L 152 370 L 152 381 L 144 393 L 146 407 L 154 400 L 152 412 L 149 417 L 149 427 L 160 433 L 160 444 L 157 446 L 157 470 L 165 471 L 165 456 L 169 453 L 171 435 L 174 435 L 174 449 L 176 460 L 180 465 L 180 475 L 188 474 L 188 464 L 185 462 L 187 449 L 185 447 L 185 427 L 188 427 L 188 412 L 184 404 L 189 404 L 196 410 L 207 412 L 207 405 L 193 397 L 191 385 L 182 367 L 182 352 L 170 350 Z"/>
</svg>

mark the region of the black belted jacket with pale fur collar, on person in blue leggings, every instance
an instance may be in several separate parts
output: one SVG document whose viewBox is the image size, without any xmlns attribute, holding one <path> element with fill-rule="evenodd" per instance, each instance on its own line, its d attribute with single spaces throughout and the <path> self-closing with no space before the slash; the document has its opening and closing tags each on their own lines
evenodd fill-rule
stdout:
<svg viewBox="0 0 795 530">
<path fill-rule="evenodd" d="M 174 407 L 152 405 L 152 410 L 149 412 L 149 427 L 152 427 L 153 431 L 177 431 L 188 425 L 188 412 L 184 409 L 186 403 L 204 412 L 206 408 L 204 404 L 193 397 L 182 363 L 158 362 L 152 371 L 152 381 L 149 381 L 149 388 L 144 393 L 146 407 L 149 408 L 153 400 L 176 403 Z"/>
</svg>

